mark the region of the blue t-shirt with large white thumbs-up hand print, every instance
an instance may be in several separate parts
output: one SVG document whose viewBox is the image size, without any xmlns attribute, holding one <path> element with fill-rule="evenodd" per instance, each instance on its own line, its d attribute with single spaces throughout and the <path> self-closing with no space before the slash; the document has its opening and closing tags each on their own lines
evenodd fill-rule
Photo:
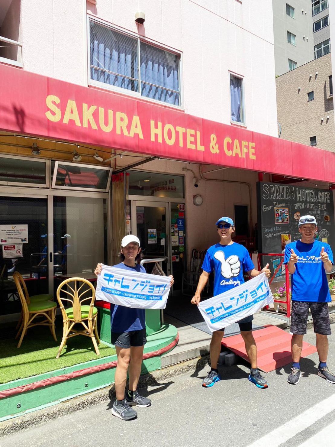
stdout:
<svg viewBox="0 0 335 447">
<path fill-rule="evenodd" d="M 202 270 L 205 272 L 214 271 L 214 295 L 244 283 L 243 271 L 253 269 L 254 264 L 247 249 L 236 242 L 231 245 L 212 245 L 207 250 L 202 264 Z"/>
</svg>

